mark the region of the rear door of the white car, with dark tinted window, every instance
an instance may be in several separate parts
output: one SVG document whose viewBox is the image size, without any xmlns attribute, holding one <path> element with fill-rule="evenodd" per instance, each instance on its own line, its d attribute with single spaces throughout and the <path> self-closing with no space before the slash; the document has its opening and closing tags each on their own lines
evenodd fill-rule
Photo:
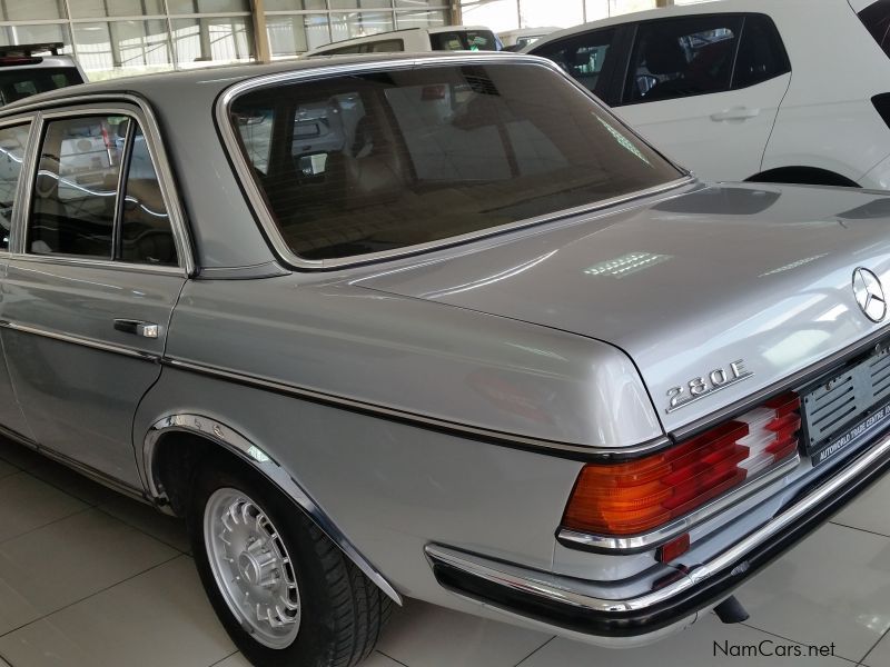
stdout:
<svg viewBox="0 0 890 667">
<path fill-rule="evenodd" d="M 763 151 L 791 81 L 763 14 L 706 14 L 637 26 L 615 112 L 706 180 L 744 180 Z"/>
</svg>

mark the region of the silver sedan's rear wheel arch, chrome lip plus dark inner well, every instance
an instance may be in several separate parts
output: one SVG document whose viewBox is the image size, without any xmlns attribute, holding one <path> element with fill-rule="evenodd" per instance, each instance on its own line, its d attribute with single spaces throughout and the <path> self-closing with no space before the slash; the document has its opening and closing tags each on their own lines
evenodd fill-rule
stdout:
<svg viewBox="0 0 890 667">
<path fill-rule="evenodd" d="M 190 471 L 208 456 L 220 455 L 238 458 L 276 486 L 387 597 L 402 605 L 402 596 L 395 587 L 349 541 L 306 489 L 261 447 L 218 419 L 204 415 L 176 414 L 151 425 L 144 440 L 140 465 L 152 500 L 161 506 L 169 506 L 174 514 L 181 514 L 184 491 L 190 482 Z"/>
</svg>

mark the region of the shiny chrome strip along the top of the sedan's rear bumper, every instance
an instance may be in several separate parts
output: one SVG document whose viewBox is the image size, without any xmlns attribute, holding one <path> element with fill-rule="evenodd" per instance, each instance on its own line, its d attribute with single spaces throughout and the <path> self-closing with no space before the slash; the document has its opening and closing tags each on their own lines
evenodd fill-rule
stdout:
<svg viewBox="0 0 890 667">
<path fill-rule="evenodd" d="M 467 554 L 444 545 L 429 544 L 424 547 L 431 566 L 435 561 L 449 565 L 475 577 L 535 595 L 561 605 L 572 605 L 582 609 L 599 613 L 634 611 L 653 607 L 678 596 L 689 588 L 705 581 L 728 567 L 742 560 L 745 555 L 755 548 L 775 538 L 781 531 L 794 521 L 802 519 L 809 511 L 822 505 L 825 499 L 833 496 L 850 484 L 856 477 L 872 468 L 878 461 L 890 454 L 890 435 L 881 436 L 877 444 L 867 450 L 848 468 L 813 491 L 799 499 L 790 507 L 775 515 L 770 521 L 752 531 L 748 536 L 728 547 L 710 560 L 692 567 L 683 573 L 678 580 L 642 596 L 626 599 L 606 599 L 592 596 L 578 590 L 575 578 L 564 577 L 555 573 L 535 571 L 515 564 L 504 564 Z M 574 588 L 572 588 L 574 586 Z M 459 594 L 457 594 L 459 595 Z M 492 603 L 485 603 L 491 605 Z"/>
</svg>

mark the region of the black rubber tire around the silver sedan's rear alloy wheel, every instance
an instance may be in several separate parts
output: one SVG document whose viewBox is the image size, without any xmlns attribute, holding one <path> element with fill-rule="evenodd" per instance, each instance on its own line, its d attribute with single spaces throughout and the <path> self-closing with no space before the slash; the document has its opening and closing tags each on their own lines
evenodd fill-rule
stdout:
<svg viewBox="0 0 890 667">
<path fill-rule="evenodd" d="M 280 490 L 247 464 L 228 460 L 195 475 L 187 520 L 201 583 L 226 631 L 257 667 L 352 667 L 364 660 L 389 618 L 392 600 Z M 246 494 L 271 520 L 294 564 L 300 598 L 296 638 L 285 648 L 260 644 L 220 591 L 204 538 L 204 514 L 218 489 Z M 249 626 L 248 626 L 249 628 Z"/>
</svg>

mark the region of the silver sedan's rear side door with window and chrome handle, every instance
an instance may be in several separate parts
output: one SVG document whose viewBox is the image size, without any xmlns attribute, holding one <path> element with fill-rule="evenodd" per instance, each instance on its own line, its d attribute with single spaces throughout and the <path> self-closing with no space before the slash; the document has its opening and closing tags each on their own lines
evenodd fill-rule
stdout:
<svg viewBox="0 0 890 667">
<path fill-rule="evenodd" d="M 138 107 L 46 112 L 39 123 L 3 282 L 9 371 L 42 448 L 139 487 L 132 418 L 160 374 L 187 278 L 182 218 Z"/>
</svg>

